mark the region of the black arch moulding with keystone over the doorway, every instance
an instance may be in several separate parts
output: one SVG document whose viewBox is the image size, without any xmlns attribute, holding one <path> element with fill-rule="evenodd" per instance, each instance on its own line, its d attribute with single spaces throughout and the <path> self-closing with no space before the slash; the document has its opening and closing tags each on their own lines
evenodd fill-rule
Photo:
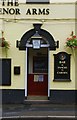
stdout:
<svg viewBox="0 0 77 120">
<path fill-rule="evenodd" d="M 28 41 L 30 41 L 31 37 L 35 34 L 36 31 L 38 31 L 39 35 L 45 39 L 49 44 L 50 50 L 56 50 L 59 46 L 59 42 L 55 41 L 53 36 L 46 30 L 41 29 L 42 24 L 33 24 L 34 29 L 31 29 L 27 31 L 22 37 L 20 41 L 17 41 L 17 47 L 19 50 L 26 50 L 26 44 Z"/>
</svg>

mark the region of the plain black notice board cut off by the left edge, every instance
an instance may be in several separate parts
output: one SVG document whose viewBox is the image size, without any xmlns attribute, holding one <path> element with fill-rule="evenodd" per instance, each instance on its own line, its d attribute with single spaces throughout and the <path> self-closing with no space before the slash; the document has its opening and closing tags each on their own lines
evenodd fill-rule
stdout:
<svg viewBox="0 0 77 120">
<path fill-rule="evenodd" d="M 0 59 L 0 85 L 11 85 L 11 59 Z"/>
</svg>

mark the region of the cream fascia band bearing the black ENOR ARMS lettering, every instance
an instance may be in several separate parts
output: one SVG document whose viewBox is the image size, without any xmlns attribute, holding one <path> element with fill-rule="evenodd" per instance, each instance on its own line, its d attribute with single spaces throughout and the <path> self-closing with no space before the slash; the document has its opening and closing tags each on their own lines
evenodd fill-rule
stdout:
<svg viewBox="0 0 77 120">
<path fill-rule="evenodd" d="M 41 1 L 41 0 L 40 0 Z M 69 11 L 68 8 L 71 10 Z M 67 12 L 65 12 L 65 9 Z M 61 12 L 60 12 L 61 11 Z M 2 16 L 1 16 L 2 15 Z M 4 19 L 75 19 L 74 4 L 22 4 L 19 0 L 1 0 L 0 17 Z"/>
</svg>

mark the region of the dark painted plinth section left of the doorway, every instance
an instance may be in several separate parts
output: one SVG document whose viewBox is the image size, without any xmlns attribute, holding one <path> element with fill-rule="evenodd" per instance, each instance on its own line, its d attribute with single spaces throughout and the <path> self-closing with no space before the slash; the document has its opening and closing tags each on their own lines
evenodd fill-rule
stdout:
<svg viewBox="0 0 77 120">
<path fill-rule="evenodd" d="M 25 99 L 25 90 L 3 89 L 2 103 L 23 103 Z"/>
</svg>

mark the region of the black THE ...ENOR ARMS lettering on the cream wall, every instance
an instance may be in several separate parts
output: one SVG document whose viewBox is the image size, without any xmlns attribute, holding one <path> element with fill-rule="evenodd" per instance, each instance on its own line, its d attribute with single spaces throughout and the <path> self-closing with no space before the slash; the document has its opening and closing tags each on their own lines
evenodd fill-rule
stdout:
<svg viewBox="0 0 77 120">
<path fill-rule="evenodd" d="M 3 15 L 20 15 L 22 10 L 18 0 L 2 0 L 0 14 Z M 49 8 L 25 8 L 25 15 L 48 15 Z"/>
</svg>

